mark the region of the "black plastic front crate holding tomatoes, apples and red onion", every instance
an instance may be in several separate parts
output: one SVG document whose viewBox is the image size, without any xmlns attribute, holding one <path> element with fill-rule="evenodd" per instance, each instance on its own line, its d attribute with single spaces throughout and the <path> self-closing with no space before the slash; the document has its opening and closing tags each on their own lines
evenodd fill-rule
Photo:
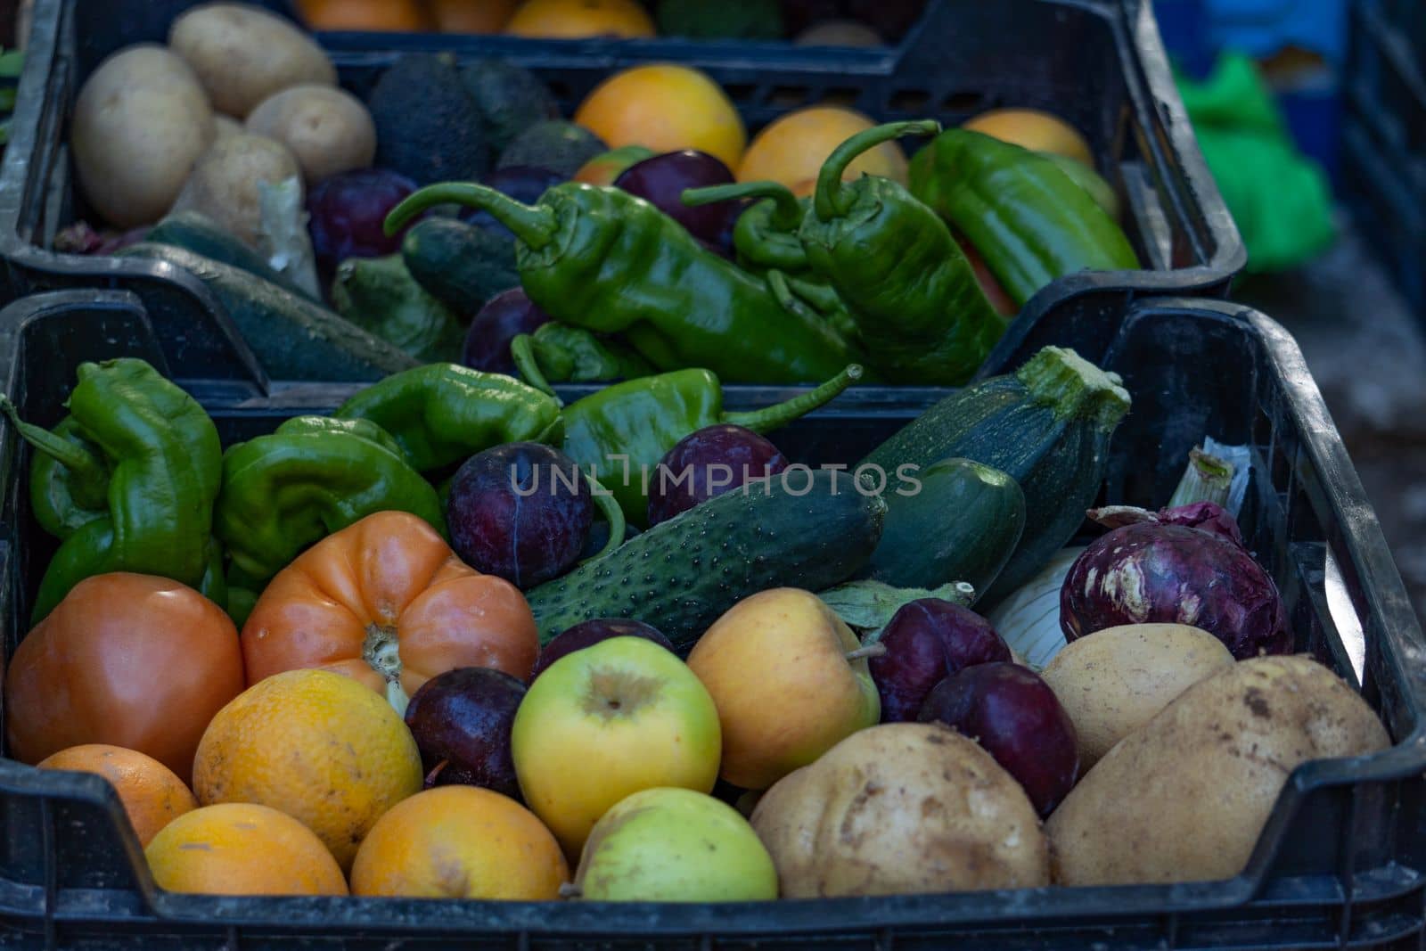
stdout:
<svg viewBox="0 0 1426 951">
<path fill-rule="evenodd" d="M 1246 871 L 1115 888 L 906 895 L 752 905 L 597 905 L 362 898 L 215 898 L 158 891 L 98 777 L 0 759 L 0 947 L 752 950 L 1420 948 L 1426 897 L 1426 642 L 1322 398 L 1288 334 L 1231 304 L 1139 304 L 1105 332 L 1134 409 L 1107 500 L 1162 505 L 1191 446 L 1252 446 L 1241 523 L 1285 597 L 1296 649 L 1362 692 L 1395 746 L 1303 764 Z M 163 352 L 138 298 L 39 295 L 0 312 L 0 385 L 40 422 L 61 413 L 81 359 Z M 1014 354 L 1020 361 L 1025 352 Z M 225 441 L 331 409 L 352 386 L 234 401 L 191 385 Z M 734 403 L 771 398 L 757 388 Z M 847 462 L 931 394 L 848 391 L 774 436 L 789 456 Z M 27 453 L 0 438 L 0 630 L 23 634 L 37 577 Z"/>
</svg>

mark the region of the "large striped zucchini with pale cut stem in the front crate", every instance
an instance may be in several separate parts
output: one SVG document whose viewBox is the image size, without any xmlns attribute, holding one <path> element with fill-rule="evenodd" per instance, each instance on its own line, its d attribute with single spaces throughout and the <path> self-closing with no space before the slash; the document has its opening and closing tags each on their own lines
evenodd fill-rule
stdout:
<svg viewBox="0 0 1426 951">
<path fill-rule="evenodd" d="M 1014 374 L 951 394 L 877 446 L 863 465 L 901 475 L 960 456 L 1010 475 L 1025 493 L 1025 530 L 980 605 L 994 606 L 1064 548 L 1104 482 L 1109 436 L 1129 394 L 1072 349 L 1047 346 Z M 890 493 L 893 508 L 906 496 Z"/>
</svg>

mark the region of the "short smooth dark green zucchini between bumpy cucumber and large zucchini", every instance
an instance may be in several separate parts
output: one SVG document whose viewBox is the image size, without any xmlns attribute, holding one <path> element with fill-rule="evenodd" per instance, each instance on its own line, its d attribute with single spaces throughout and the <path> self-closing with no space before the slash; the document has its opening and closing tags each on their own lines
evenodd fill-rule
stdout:
<svg viewBox="0 0 1426 951">
<path fill-rule="evenodd" d="M 968 582 L 978 597 L 1020 543 L 1025 493 L 1000 469 L 971 459 L 941 459 L 915 480 L 887 506 L 871 577 L 897 587 Z"/>
</svg>

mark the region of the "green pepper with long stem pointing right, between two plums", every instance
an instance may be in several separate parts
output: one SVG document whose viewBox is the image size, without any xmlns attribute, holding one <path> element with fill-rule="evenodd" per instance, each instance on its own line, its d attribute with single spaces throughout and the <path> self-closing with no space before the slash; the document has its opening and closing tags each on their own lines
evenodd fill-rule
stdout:
<svg viewBox="0 0 1426 951">
<path fill-rule="evenodd" d="M 723 412 L 723 388 L 706 369 L 680 369 L 606 386 L 565 409 L 565 455 L 613 493 L 635 525 L 649 523 L 649 485 L 680 439 L 717 423 L 753 432 L 786 426 L 861 378 L 853 364 L 787 402 L 752 412 Z"/>
</svg>

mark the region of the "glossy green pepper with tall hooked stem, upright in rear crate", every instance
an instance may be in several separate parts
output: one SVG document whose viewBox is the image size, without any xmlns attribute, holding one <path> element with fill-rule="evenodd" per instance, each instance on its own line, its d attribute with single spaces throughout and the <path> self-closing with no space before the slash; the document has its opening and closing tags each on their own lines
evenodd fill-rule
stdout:
<svg viewBox="0 0 1426 951">
<path fill-rule="evenodd" d="M 876 369 L 896 382 L 958 386 L 985 361 L 1005 322 L 934 211 L 890 178 L 843 181 L 868 148 L 938 128 L 890 123 L 838 145 L 817 177 L 800 237 L 813 271 L 847 302 Z"/>
</svg>

